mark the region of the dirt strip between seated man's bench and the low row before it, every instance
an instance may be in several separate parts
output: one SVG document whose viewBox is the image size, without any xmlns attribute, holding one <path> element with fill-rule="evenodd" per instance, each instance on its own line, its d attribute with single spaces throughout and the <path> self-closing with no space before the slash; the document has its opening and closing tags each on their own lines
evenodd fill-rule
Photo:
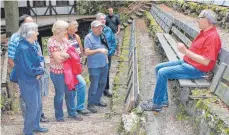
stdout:
<svg viewBox="0 0 229 135">
<path fill-rule="evenodd" d="M 148 36 L 144 20 L 136 21 L 137 41 L 139 45 L 140 93 L 141 100 L 151 99 L 155 88 L 154 68 L 160 63 L 160 54 L 155 50 L 152 39 Z M 177 120 L 179 111 L 173 101 L 171 87 L 169 88 L 169 108 L 159 114 L 145 112 L 147 115 L 146 130 L 148 135 L 194 135 L 194 129 L 188 120 Z"/>
</svg>

